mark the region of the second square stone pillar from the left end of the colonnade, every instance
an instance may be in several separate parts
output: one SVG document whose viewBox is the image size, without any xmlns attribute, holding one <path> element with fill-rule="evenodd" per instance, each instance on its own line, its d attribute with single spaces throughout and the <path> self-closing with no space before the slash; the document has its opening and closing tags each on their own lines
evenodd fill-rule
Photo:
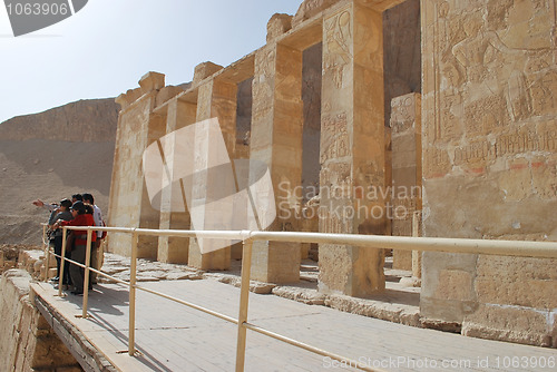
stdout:
<svg viewBox="0 0 557 372">
<path fill-rule="evenodd" d="M 196 110 L 197 106 L 194 104 L 183 101 L 178 98 L 172 99 L 167 105 L 166 134 L 170 134 L 187 125 L 194 124 L 196 120 Z M 175 158 L 174 154 L 176 150 L 176 144 L 167 141 L 166 146 L 168 147 L 164 149 L 164 154 L 166 155 L 166 176 L 173 179 L 175 167 L 179 167 L 179 164 L 174 164 L 173 161 Z M 170 208 L 170 205 L 176 204 L 173 203 L 173 198 L 183 199 L 182 205 L 184 206 L 185 211 L 173 211 Z M 164 188 L 162 194 L 159 228 L 189 229 L 189 227 L 190 221 L 189 213 L 187 212 L 185 195 L 182 194 L 182 189 L 178 184 L 170 183 L 170 186 Z M 159 236 L 157 261 L 165 263 L 186 264 L 188 249 L 188 237 Z"/>
</svg>

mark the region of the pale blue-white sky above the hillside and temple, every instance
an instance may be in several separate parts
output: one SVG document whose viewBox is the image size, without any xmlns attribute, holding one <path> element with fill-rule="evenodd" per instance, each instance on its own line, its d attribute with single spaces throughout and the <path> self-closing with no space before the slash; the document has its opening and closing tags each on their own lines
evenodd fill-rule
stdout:
<svg viewBox="0 0 557 372">
<path fill-rule="evenodd" d="M 196 65 L 227 66 L 265 43 L 276 12 L 302 0 L 89 0 L 75 16 L 14 38 L 0 3 L 0 123 L 87 98 L 116 97 L 147 71 L 167 85 Z"/>
</svg>

